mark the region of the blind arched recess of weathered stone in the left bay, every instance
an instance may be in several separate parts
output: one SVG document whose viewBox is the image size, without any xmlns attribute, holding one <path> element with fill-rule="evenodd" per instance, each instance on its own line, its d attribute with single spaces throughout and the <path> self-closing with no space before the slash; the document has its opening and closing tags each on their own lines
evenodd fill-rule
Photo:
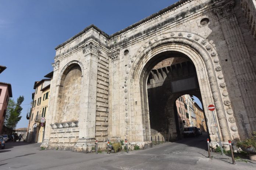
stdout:
<svg viewBox="0 0 256 170">
<path fill-rule="evenodd" d="M 61 75 L 55 122 L 78 121 L 82 91 L 82 71 L 77 63 L 70 64 Z"/>
</svg>

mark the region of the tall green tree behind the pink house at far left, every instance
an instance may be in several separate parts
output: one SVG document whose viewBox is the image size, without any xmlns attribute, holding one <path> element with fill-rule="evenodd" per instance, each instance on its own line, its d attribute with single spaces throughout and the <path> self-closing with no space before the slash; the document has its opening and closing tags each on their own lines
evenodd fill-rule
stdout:
<svg viewBox="0 0 256 170">
<path fill-rule="evenodd" d="M 11 99 L 9 100 L 7 111 L 6 111 L 6 118 L 4 124 L 11 129 L 15 129 L 17 123 L 21 119 L 21 103 L 24 101 L 24 96 L 19 96 L 17 99 L 17 103 Z"/>
</svg>

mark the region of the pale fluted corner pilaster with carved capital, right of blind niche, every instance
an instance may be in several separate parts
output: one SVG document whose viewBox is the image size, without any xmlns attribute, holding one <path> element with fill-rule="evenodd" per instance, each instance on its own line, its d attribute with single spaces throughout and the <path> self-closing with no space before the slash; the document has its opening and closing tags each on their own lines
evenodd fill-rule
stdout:
<svg viewBox="0 0 256 170">
<path fill-rule="evenodd" d="M 97 66 L 100 48 L 90 42 L 83 48 L 85 66 L 82 78 L 83 90 L 79 115 L 79 139 L 76 151 L 86 152 L 89 143 L 95 139 Z"/>
</svg>

